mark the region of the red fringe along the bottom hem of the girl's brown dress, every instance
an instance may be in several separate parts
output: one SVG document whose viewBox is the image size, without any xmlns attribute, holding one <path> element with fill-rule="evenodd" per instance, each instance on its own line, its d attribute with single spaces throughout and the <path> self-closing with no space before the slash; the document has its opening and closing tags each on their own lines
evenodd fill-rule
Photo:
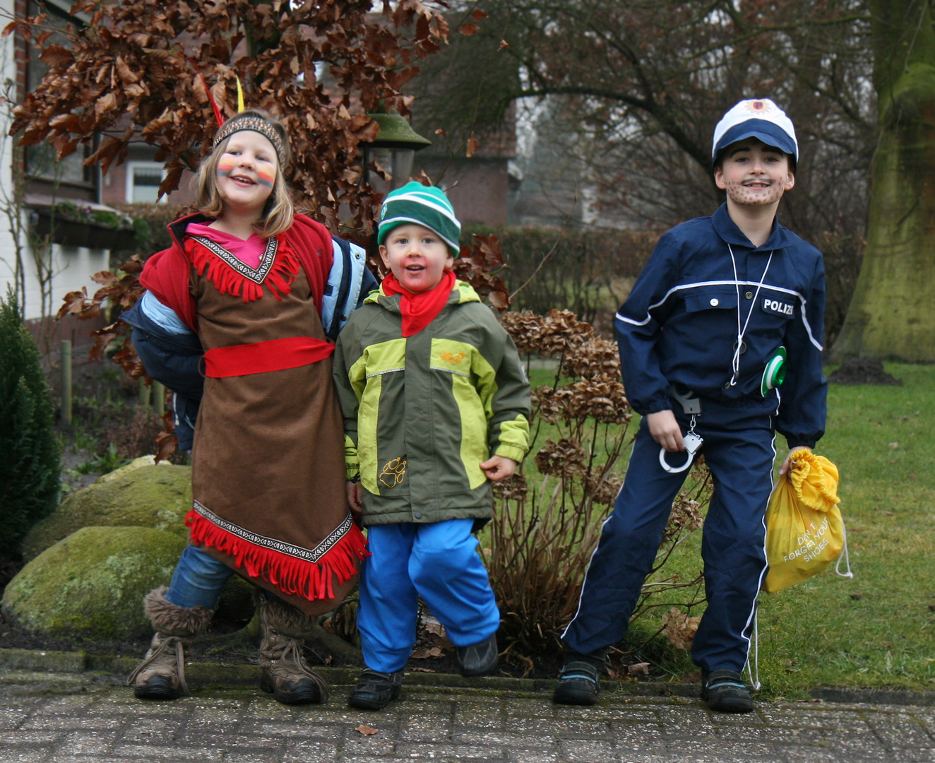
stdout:
<svg viewBox="0 0 935 763">
<path fill-rule="evenodd" d="M 338 578 L 338 584 L 347 583 L 357 574 L 357 563 L 370 555 L 367 540 L 356 523 L 317 562 L 296 559 L 237 538 L 194 509 L 185 517 L 185 525 L 191 528 L 196 544 L 233 556 L 237 567 L 245 569 L 252 578 L 262 578 L 283 593 L 309 601 L 334 598 L 333 578 Z"/>
</svg>

